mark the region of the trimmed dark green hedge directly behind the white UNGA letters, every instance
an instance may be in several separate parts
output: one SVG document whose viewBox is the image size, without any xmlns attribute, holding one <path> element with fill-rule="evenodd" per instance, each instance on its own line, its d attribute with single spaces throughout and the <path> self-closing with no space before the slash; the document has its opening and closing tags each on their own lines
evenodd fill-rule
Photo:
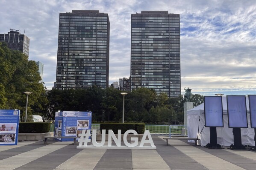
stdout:
<svg viewBox="0 0 256 170">
<path fill-rule="evenodd" d="M 124 134 L 127 130 L 135 130 L 138 134 L 143 134 L 145 131 L 144 123 L 101 123 L 100 132 L 106 129 L 106 133 L 109 133 L 108 130 L 113 130 L 114 133 L 118 133 L 118 130 L 121 130 L 121 133 Z"/>
</svg>

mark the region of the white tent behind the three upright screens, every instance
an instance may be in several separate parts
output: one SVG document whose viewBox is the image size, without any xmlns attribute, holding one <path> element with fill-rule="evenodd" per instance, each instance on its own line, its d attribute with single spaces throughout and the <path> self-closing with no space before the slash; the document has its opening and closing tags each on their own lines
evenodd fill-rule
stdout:
<svg viewBox="0 0 256 170">
<path fill-rule="evenodd" d="M 223 121 L 224 127 L 217 127 L 217 143 L 221 146 L 230 146 L 234 144 L 234 136 L 232 133 L 232 128 L 228 127 L 228 118 L 227 118 L 227 97 L 222 96 L 222 105 L 223 105 Z M 248 97 L 246 97 L 246 107 L 247 107 L 247 120 L 248 128 L 241 128 L 241 139 L 243 145 L 255 146 L 254 142 L 254 129 L 250 128 L 250 115 L 249 115 L 249 102 Z M 199 121 L 200 118 L 200 121 Z M 200 104 L 193 109 L 187 111 L 187 121 L 188 121 L 188 138 L 197 138 L 197 134 L 201 132 L 197 141 L 197 144 L 201 146 L 206 146 L 210 143 L 210 128 L 204 127 L 204 104 Z M 199 122 L 199 124 L 198 124 Z M 199 125 L 199 130 L 198 130 Z M 202 130 L 203 129 L 203 130 Z M 189 141 L 189 142 L 194 142 Z"/>
</svg>

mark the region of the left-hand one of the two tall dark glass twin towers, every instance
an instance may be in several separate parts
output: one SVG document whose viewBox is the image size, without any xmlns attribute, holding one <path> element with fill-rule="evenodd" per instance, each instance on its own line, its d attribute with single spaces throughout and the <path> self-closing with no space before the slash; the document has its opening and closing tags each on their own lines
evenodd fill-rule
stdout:
<svg viewBox="0 0 256 170">
<path fill-rule="evenodd" d="M 99 11 L 59 14 L 56 89 L 109 86 L 109 28 Z"/>
</svg>

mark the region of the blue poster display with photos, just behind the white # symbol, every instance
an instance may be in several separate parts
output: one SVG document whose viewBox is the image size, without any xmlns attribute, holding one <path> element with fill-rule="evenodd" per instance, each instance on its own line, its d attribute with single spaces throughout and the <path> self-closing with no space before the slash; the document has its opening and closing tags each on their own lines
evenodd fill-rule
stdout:
<svg viewBox="0 0 256 170">
<path fill-rule="evenodd" d="M 91 112 L 63 111 L 55 114 L 56 136 L 78 136 L 82 130 L 91 130 Z M 59 138 L 61 141 L 73 139 Z"/>
</svg>

